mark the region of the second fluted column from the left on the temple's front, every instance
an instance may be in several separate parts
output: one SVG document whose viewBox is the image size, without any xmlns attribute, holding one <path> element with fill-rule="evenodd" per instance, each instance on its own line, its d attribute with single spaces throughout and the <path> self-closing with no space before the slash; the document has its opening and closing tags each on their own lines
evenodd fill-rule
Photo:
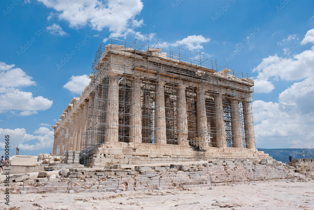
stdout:
<svg viewBox="0 0 314 210">
<path fill-rule="evenodd" d="M 142 143 L 141 80 L 131 82 L 130 142 Z"/>
</svg>

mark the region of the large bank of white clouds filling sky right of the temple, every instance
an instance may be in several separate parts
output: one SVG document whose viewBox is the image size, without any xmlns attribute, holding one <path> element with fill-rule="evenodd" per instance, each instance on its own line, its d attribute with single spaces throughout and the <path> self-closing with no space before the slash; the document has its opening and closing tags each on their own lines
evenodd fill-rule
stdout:
<svg viewBox="0 0 314 210">
<path fill-rule="evenodd" d="M 310 31 L 306 33 L 303 43 L 311 42 Z M 302 80 L 282 91 L 278 95 L 278 101 L 253 101 L 252 112 L 258 147 L 314 148 L 313 66 L 314 47 L 311 47 L 311 50 L 289 58 L 268 56 L 253 69 L 253 72 L 258 72 L 254 87 L 257 93 L 273 90 L 273 80 Z"/>
</svg>

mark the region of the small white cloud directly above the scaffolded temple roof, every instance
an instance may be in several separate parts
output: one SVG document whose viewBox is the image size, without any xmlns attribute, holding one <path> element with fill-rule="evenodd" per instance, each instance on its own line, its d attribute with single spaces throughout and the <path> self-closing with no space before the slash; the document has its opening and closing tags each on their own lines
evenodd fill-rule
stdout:
<svg viewBox="0 0 314 210">
<path fill-rule="evenodd" d="M 183 48 L 186 48 L 190 51 L 196 51 L 203 49 L 203 43 L 208 43 L 210 41 L 210 38 L 205 38 L 202 35 L 191 35 L 187 36 L 186 38 L 182 40 L 178 40 L 175 43 L 168 43 L 168 42 L 162 42 L 159 43 L 159 46 L 162 48 L 167 48 L 169 45 L 171 46 L 182 46 Z"/>
</svg>

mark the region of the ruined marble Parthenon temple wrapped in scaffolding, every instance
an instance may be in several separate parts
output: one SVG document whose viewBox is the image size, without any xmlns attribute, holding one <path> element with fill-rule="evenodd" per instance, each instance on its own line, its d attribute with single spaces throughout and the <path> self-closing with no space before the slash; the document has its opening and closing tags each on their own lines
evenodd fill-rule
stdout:
<svg viewBox="0 0 314 210">
<path fill-rule="evenodd" d="M 263 156 L 245 73 L 200 53 L 111 39 L 89 78 L 53 126 L 56 155 L 81 151 L 91 166 Z"/>
</svg>

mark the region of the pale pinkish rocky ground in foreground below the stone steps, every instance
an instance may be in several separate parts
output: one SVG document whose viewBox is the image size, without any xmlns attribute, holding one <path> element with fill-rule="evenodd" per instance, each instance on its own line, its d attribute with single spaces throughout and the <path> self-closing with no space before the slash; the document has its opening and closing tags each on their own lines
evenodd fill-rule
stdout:
<svg viewBox="0 0 314 210">
<path fill-rule="evenodd" d="M 314 181 L 215 186 L 213 190 L 13 194 L 1 209 L 314 209 Z"/>
</svg>

